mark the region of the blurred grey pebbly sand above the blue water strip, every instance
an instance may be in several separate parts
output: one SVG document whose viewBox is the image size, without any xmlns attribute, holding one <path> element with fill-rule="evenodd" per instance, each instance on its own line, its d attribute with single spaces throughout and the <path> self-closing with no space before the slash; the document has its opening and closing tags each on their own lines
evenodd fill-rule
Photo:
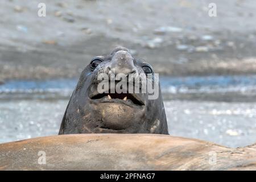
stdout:
<svg viewBox="0 0 256 182">
<path fill-rule="evenodd" d="M 1 1 L 0 80 L 77 77 L 121 45 L 162 75 L 256 73 L 256 2 Z"/>
</svg>

